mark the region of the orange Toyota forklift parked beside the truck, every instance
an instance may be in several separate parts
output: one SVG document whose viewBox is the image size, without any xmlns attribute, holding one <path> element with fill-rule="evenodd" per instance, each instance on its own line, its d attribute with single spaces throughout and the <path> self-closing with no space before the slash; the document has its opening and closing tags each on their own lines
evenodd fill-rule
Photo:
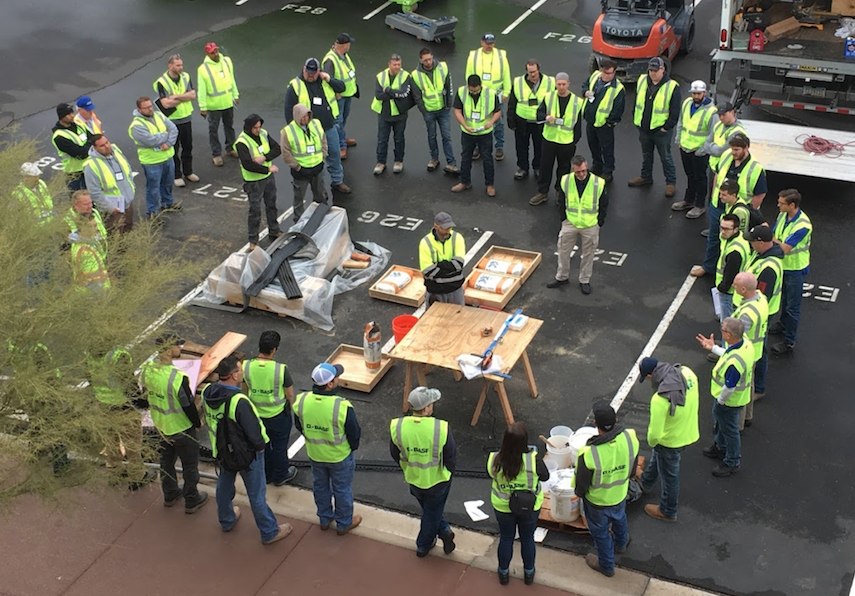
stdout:
<svg viewBox="0 0 855 596">
<path fill-rule="evenodd" d="M 647 74 L 647 62 L 656 56 L 671 61 L 688 54 L 695 38 L 695 0 L 601 0 L 603 14 L 594 24 L 589 67 L 600 58 L 617 62 L 617 76 L 634 83 Z"/>
</svg>

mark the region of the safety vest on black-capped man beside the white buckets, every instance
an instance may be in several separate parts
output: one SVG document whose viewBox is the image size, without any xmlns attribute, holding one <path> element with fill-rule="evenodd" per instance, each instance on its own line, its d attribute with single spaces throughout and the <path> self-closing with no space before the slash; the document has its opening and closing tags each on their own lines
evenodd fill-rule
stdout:
<svg viewBox="0 0 855 596">
<path fill-rule="evenodd" d="M 638 437 L 628 428 L 608 443 L 585 445 L 578 457 L 585 456 L 585 467 L 594 472 L 585 499 L 600 507 L 618 505 L 629 490 L 635 475 L 633 464 L 638 455 Z"/>
</svg>

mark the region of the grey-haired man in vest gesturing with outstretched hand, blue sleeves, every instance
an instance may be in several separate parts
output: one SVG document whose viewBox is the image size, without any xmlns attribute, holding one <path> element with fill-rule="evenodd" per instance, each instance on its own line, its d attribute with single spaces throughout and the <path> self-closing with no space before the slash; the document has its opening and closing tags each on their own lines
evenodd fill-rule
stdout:
<svg viewBox="0 0 855 596">
<path fill-rule="evenodd" d="M 710 381 L 714 400 L 714 442 L 704 448 L 704 455 L 723 460 L 712 473 L 717 478 L 724 478 L 739 471 L 742 459 L 739 417 L 751 401 L 754 346 L 745 335 L 745 323 L 732 317 L 721 322 L 721 339 L 727 349 L 716 345 L 714 334 L 704 337 L 699 333 L 696 339 L 702 348 L 719 356 Z"/>
</svg>

